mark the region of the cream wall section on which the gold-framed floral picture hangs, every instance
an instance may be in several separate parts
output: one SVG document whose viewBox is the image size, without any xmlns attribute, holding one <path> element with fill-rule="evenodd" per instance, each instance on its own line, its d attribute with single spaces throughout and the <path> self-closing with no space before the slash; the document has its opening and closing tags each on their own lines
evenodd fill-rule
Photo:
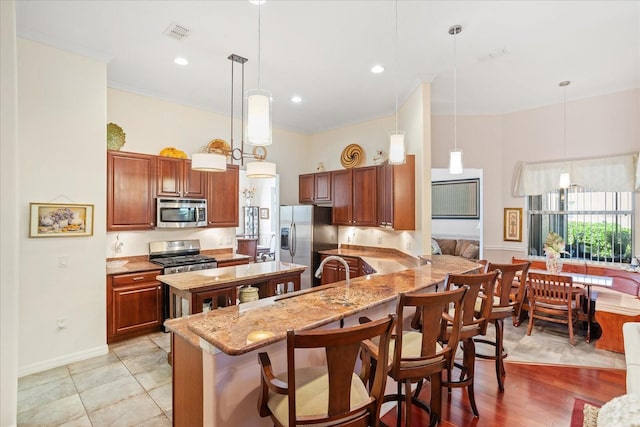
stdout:
<svg viewBox="0 0 640 427">
<path fill-rule="evenodd" d="M 104 63 L 18 39 L 21 374 L 107 352 L 106 72 Z M 94 205 L 93 236 L 29 238 L 30 202 Z"/>
</svg>

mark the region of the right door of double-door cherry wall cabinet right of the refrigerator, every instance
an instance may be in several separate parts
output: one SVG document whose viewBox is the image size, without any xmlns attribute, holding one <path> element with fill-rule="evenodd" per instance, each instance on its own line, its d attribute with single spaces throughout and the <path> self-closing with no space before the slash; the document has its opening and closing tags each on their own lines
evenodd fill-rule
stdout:
<svg viewBox="0 0 640 427">
<path fill-rule="evenodd" d="M 353 169 L 353 225 L 378 225 L 376 178 L 375 166 Z"/>
</svg>

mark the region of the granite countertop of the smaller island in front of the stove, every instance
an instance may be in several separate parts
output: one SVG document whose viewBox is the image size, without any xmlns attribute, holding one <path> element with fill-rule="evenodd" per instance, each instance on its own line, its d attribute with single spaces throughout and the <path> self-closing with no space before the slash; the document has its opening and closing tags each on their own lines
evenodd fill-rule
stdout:
<svg viewBox="0 0 640 427">
<path fill-rule="evenodd" d="M 307 266 L 290 262 L 270 261 L 186 273 L 166 274 L 157 279 L 181 291 L 210 287 L 214 285 L 242 284 L 250 279 L 269 278 L 285 273 L 302 273 Z"/>
</svg>

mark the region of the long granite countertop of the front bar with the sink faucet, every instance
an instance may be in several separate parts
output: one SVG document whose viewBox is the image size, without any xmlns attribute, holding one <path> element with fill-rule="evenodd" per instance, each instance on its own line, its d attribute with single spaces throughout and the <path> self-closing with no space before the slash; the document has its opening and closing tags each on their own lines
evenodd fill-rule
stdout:
<svg viewBox="0 0 640 427">
<path fill-rule="evenodd" d="M 343 253 L 344 254 L 344 253 Z M 441 256 L 431 264 L 392 274 L 362 276 L 299 292 L 265 298 L 165 322 L 172 332 L 192 343 L 199 338 L 229 355 L 250 352 L 286 338 L 288 329 L 313 329 L 353 316 L 394 300 L 401 292 L 426 289 L 444 280 L 449 272 L 471 271 L 479 265 L 454 256 Z M 256 332 L 267 332 L 261 341 L 248 341 Z"/>
</svg>

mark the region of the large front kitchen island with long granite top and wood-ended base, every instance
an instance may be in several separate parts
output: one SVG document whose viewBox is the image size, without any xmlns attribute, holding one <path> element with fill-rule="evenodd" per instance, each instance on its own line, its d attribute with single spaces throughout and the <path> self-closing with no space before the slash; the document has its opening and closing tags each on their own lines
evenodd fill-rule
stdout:
<svg viewBox="0 0 640 427">
<path fill-rule="evenodd" d="M 433 292 L 447 273 L 479 267 L 460 257 L 436 256 L 431 264 L 354 279 L 349 287 L 337 282 L 167 321 L 173 334 L 174 425 L 272 425 L 256 408 L 257 350 L 268 352 L 276 373 L 283 372 L 288 329 L 352 326 L 360 315 L 380 318 L 395 312 L 399 293 Z M 312 353 L 298 366 L 313 365 L 319 357 Z"/>
</svg>

